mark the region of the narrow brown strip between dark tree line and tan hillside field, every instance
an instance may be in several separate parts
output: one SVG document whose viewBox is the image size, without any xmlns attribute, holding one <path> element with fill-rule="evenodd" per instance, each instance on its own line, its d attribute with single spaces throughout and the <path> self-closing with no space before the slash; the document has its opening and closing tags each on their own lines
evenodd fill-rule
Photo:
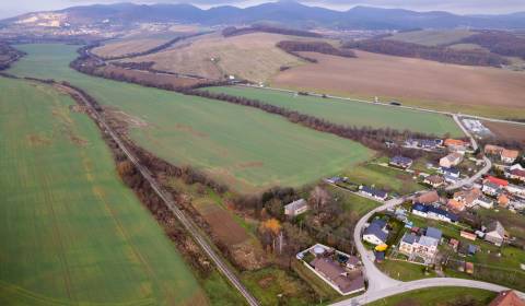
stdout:
<svg viewBox="0 0 525 306">
<path fill-rule="evenodd" d="M 104 73 L 125 74 L 128 78 L 135 78 L 139 82 L 153 82 L 155 84 L 171 84 L 173 86 L 191 86 L 203 82 L 198 79 L 179 78 L 172 74 L 153 73 L 148 71 L 128 70 L 115 66 L 104 67 Z"/>
</svg>

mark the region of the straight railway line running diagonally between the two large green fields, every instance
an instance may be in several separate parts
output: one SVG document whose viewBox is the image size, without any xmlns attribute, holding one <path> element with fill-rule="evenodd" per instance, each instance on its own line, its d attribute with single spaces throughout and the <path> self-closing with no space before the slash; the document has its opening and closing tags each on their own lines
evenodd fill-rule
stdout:
<svg viewBox="0 0 525 306">
<path fill-rule="evenodd" d="M 174 215 L 178 219 L 178 221 L 183 224 L 183 226 L 188 231 L 188 233 L 191 235 L 195 242 L 197 242 L 197 244 L 202 248 L 202 250 L 207 254 L 207 256 L 215 263 L 219 271 L 245 297 L 246 302 L 250 306 L 258 306 L 259 303 L 257 302 L 257 299 L 252 296 L 252 294 L 246 290 L 246 287 L 244 287 L 244 285 L 237 279 L 235 273 L 233 273 L 230 267 L 213 250 L 213 248 L 205 238 L 205 236 L 200 234 L 200 231 L 198 229 L 197 225 L 195 225 L 194 222 L 191 222 L 191 220 L 189 220 L 184 214 L 184 212 L 177 208 L 172 196 L 161 187 L 161 185 L 155 180 L 151 172 L 140 163 L 140 161 L 135 156 L 135 154 L 131 151 L 128 150 L 124 141 L 120 140 L 119 136 L 116 132 L 114 132 L 114 130 L 106 123 L 103 116 L 101 116 L 98 111 L 94 109 L 94 107 L 85 99 L 85 97 L 80 92 L 65 85 L 57 85 L 57 86 L 61 87 L 62 90 L 66 90 L 67 92 L 73 92 L 83 99 L 84 104 L 91 109 L 93 116 L 95 117 L 94 119 L 98 121 L 100 125 L 102 125 L 102 127 L 105 129 L 107 134 L 109 134 L 112 139 L 118 144 L 118 146 L 122 150 L 122 152 L 126 154 L 129 161 L 133 163 L 133 165 L 137 167 L 140 174 L 144 177 L 145 180 L 148 180 L 148 183 L 151 185 L 153 190 L 155 190 L 156 195 L 164 201 L 167 208 L 174 213 Z"/>
</svg>

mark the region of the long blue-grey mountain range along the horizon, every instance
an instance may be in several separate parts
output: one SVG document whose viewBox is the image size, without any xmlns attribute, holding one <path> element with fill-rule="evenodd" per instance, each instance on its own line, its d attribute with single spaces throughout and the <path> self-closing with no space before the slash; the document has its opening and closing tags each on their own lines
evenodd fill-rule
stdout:
<svg viewBox="0 0 525 306">
<path fill-rule="evenodd" d="M 2 23 L 31 24 L 38 16 L 56 14 L 61 24 L 89 25 L 110 23 L 126 25 L 140 22 L 180 22 L 202 25 L 277 22 L 288 26 L 325 26 L 331 28 L 407 30 L 407 28 L 525 28 L 525 12 L 505 15 L 456 15 L 447 12 L 415 12 L 399 9 L 355 7 L 341 12 L 307 7 L 293 1 L 269 2 L 246 9 L 219 7 L 201 10 L 190 4 L 95 4 L 72 7 L 55 12 L 30 13 Z M 35 19 L 34 16 L 37 16 Z"/>
</svg>

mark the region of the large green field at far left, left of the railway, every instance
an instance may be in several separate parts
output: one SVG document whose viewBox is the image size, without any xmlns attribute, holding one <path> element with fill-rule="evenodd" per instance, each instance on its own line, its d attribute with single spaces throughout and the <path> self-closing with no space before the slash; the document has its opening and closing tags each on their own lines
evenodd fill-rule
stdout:
<svg viewBox="0 0 525 306">
<path fill-rule="evenodd" d="M 0 78 L 0 305 L 208 304 L 73 104 Z"/>
</svg>

